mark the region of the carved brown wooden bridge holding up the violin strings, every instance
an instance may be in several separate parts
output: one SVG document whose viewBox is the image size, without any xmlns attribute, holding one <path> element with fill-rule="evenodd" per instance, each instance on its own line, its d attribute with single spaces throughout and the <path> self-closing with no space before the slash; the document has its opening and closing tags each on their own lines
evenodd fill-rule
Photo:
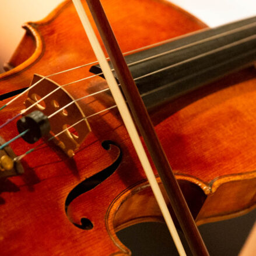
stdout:
<svg viewBox="0 0 256 256">
<path fill-rule="evenodd" d="M 34 83 L 38 82 L 42 78 L 43 76 L 35 74 L 31 85 L 34 85 Z M 54 90 L 56 91 L 50 94 Z M 87 122 L 82 109 L 79 107 L 78 103 L 74 101 L 75 99 L 73 99 L 71 94 L 48 78 L 42 79 L 36 86 L 29 90 L 27 99 L 24 101 L 25 107 L 30 107 L 32 104 L 36 103 L 36 101 L 48 94 L 50 95 L 45 97 L 44 100 L 38 102 L 28 111 L 28 113 L 34 110 L 40 110 L 44 115 L 49 117 L 51 114 L 63 108 L 57 114 L 54 114 L 49 118 L 51 131 L 46 139 L 50 139 L 54 136 L 52 141 L 54 141 L 54 143 L 58 145 L 66 155 L 72 157 L 75 155 L 75 151 L 79 149 L 80 144 L 84 141 L 87 134 L 91 131 L 90 125 Z M 71 102 L 73 103 L 65 107 Z M 78 121 L 80 121 L 78 124 L 71 127 Z M 67 129 L 68 127 L 71 128 Z M 60 132 L 62 133 L 59 134 Z"/>
</svg>

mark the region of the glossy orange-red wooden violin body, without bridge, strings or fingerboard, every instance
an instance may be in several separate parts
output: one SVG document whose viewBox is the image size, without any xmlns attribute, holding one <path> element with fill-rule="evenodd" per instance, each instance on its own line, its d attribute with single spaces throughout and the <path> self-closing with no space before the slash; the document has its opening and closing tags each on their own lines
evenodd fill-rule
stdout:
<svg viewBox="0 0 256 256">
<path fill-rule="evenodd" d="M 206 28 L 169 2 L 102 2 L 124 52 Z M 24 29 L 5 66 L 9 71 L 0 75 L 0 94 L 29 86 L 34 73 L 95 61 L 71 1 Z M 85 67 L 51 79 L 64 85 L 90 75 Z M 250 66 L 150 111 L 198 225 L 255 208 L 255 75 Z M 104 88 L 105 80 L 96 76 L 66 90 L 78 99 Z M 0 111 L 1 120 L 19 113 L 25 100 Z M 79 101 L 86 116 L 113 105 L 105 92 Z M 22 176 L 0 180 L 1 255 L 127 255 L 118 230 L 163 220 L 118 111 L 88 122 L 92 132 L 72 158 L 49 142 L 24 157 Z M 14 122 L 1 129 L 6 141 L 16 135 Z M 22 155 L 35 145 L 19 139 L 11 147 Z"/>
</svg>

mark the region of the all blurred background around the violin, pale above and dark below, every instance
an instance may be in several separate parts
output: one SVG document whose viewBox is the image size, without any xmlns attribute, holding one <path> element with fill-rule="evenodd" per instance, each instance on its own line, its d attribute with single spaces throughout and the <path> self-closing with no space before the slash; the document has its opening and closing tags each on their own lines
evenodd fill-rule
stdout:
<svg viewBox="0 0 256 256">
<path fill-rule="evenodd" d="M 3 63 L 8 61 L 24 34 L 22 24 L 43 19 L 60 2 L 62 0 L 0 1 L 0 72 L 3 72 Z M 255 0 L 173 0 L 171 2 L 211 27 L 256 15 Z M 199 227 L 210 254 L 237 255 L 255 218 L 256 211 L 253 211 L 240 218 Z M 134 256 L 178 255 L 163 224 L 143 223 L 129 227 L 119 232 L 118 237 L 131 248 Z"/>
</svg>

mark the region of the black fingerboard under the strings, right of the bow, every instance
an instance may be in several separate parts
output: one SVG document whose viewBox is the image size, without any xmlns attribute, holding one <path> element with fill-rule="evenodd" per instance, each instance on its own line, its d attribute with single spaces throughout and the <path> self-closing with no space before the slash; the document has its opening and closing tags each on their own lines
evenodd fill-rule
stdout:
<svg viewBox="0 0 256 256">
<path fill-rule="evenodd" d="M 154 108 L 252 64 L 255 34 L 256 17 L 251 17 L 174 38 L 125 60 L 146 107 Z M 101 73 L 98 65 L 90 71 Z"/>
</svg>

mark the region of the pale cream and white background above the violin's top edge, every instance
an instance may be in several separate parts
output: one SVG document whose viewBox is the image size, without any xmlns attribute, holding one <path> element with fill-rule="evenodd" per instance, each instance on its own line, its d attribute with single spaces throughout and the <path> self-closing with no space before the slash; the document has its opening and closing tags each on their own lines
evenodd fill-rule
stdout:
<svg viewBox="0 0 256 256">
<path fill-rule="evenodd" d="M 127 0 L 129 1 L 129 0 Z M 43 19 L 62 0 L 0 0 L 0 72 L 23 36 L 22 23 Z M 256 15 L 256 0 L 173 0 L 209 26 Z"/>
</svg>

